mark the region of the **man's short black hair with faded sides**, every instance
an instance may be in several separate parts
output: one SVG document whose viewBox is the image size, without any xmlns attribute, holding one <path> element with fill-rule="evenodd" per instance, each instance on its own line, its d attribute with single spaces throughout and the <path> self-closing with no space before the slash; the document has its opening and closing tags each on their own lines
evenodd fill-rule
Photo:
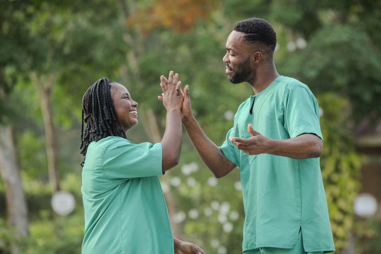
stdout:
<svg viewBox="0 0 381 254">
<path fill-rule="evenodd" d="M 233 30 L 245 34 L 243 37 L 248 43 L 259 44 L 265 50 L 274 53 L 277 46 L 277 35 L 274 29 L 264 19 L 250 18 L 235 23 Z"/>
</svg>

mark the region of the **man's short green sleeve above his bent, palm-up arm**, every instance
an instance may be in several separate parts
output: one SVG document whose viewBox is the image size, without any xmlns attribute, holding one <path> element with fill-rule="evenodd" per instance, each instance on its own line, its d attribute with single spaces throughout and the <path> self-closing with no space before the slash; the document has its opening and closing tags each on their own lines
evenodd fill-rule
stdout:
<svg viewBox="0 0 381 254">
<path fill-rule="evenodd" d="M 290 138 L 314 133 L 323 140 L 319 122 L 319 105 L 315 96 L 303 86 L 291 86 L 283 98 L 285 129 Z"/>
</svg>

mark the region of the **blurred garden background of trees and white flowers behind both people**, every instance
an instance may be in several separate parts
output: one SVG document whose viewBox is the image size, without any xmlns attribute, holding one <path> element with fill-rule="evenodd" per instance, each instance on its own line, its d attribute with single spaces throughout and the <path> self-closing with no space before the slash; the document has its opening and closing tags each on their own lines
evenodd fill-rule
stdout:
<svg viewBox="0 0 381 254">
<path fill-rule="evenodd" d="M 160 142 L 160 75 L 179 73 L 221 145 L 248 83 L 222 61 L 235 22 L 267 19 L 275 65 L 320 105 L 321 157 L 336 252 L 381 253 L 380 0 L 0 0 L 0 253 L 80 253 L 81 100 L 96 80 L 139 103 L 134 143 Z M 215 179 L 184 132 L 160 177 L 174 236 L 208 254 L 242 253 L 239 170 Z M 53 193 L 56 193 L 53 198 Z M 54 208 L 54 210 L 53 210 Z M 110 232 L 112 233 L 112 232 Z"/>
</svg>

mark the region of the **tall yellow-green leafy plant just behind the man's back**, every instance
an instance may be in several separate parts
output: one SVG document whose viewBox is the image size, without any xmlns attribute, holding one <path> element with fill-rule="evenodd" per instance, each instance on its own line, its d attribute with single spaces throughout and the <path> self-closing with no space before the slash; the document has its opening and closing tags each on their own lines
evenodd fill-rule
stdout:
<svg viewBox="0 0 381 254">
<path fill-rule="evenodd" d="M 319 97 L 324 139 L 321 156 L 322 177 L 336 250 L 345 247 L 347 232 L 353 224 L 352 204 L 357 196 L 361 159 L 355 153 L 348 131 L 349 104 L 346 99 L 327 93 Z"/>
</svg>

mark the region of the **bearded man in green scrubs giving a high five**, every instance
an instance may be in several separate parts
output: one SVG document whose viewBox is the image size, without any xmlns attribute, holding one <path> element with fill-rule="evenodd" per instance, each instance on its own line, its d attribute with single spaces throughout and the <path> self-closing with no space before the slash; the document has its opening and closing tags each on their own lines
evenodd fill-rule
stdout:
<svg viewBox="0 0 381 254">
<path fill-rule="evenodd" d="M 332 252 L 319 165 L 319 107 L 306 85 L 278 74 L 275 45 L 274 29 L 258 18 L 237 22 L 227 38 L 227 77 L 234 84 L 250 83 L 255 95 L 239 106 L 221 147 L 193 117 L 188 89 L 182 123 L 215 177 L 240 169 L 245 254 Z"/>
</svg>

